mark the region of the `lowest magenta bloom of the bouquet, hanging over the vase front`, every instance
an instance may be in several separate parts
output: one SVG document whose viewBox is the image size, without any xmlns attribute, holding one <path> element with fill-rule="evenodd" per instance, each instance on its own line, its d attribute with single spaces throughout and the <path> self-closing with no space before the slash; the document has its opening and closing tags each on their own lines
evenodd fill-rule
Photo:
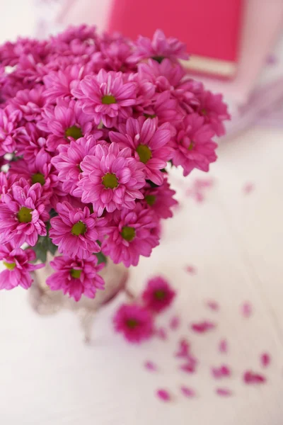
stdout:
<svg viewBox="0 0 283 425">
<path fill-rule="evenodd" d="M 62 290 L 76 301 L 81 299 L 81 295 L 94 298 L 96 290 L 104 289 L 104 280 L 98 274 L 104 264 L 98 264 L 95 255 L 87 259 L 57 256 L 50 261 L 50 266 L 56 272 L 47 278 L 47 285 L 51 290 Z"/>
</svg>

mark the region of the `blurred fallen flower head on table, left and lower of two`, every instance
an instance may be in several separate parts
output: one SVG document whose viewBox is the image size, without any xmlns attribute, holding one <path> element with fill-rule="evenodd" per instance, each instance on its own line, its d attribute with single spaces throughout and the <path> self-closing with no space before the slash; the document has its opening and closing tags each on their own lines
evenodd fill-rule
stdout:
<svg viewBox="0 0 283 425">
<path fill-rule="evenodd" d="M 153 317 L 140 305 L 121 305 L 113 322 L 115 331 L 124 334 L 129 342 L 139 343 L 153 334 Z"/>
</svg>

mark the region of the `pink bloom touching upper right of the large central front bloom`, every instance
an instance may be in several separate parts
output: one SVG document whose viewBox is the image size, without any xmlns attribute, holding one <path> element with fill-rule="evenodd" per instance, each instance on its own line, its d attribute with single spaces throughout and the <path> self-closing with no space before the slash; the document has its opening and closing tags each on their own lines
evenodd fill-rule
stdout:
<svg viewBox="0 0 283 425">
<path fill-rule="evenodd" d="M 121 148 L 129 147 L 137 161 L 144 164 L 146 179 L 163 183 L 163 173 L 160 171 L 173 156 L 173 150 L 168 146 L 171 140 L 171 130 L 168 123 L 157 126 L 156 118 L 139 117 L 137 120 L 128 118 L 126 124 L 119 125 L 119 132 L 110 131 L 109 137 Z"/>
</svg>

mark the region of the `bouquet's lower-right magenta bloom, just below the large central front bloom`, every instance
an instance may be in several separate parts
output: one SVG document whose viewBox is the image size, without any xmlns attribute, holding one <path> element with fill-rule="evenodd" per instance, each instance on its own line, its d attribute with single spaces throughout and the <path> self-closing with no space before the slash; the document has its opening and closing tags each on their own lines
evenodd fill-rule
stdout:
<svg viewBox="0 0 283 425">
<path fill-rule="evenodd" d="M 121 212 L 113 212 L 109 227 L 110 233 L 101 249 L 115 264 L 137 266 L 139 256 L 150 256 L 154 246 L 159 244 L 156 215 L 142 208 L 140 203 L 132 211 L 124 208 Z"/>
</svg>

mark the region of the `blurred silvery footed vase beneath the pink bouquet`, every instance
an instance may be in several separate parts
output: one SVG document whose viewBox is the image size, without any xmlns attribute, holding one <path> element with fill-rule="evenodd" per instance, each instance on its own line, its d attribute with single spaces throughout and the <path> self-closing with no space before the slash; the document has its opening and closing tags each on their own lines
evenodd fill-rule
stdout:
<svg viewBox="0 0 283 425">
<path fill-rule="evenodd" d="M 93 320 L 98 310 L 122 291 L 125 291 L 128 297 L 134 297 L 126 287 L 128 269 L 122 263 L 114 264 L 108 259 L 105 267 L 99 272 L 105 281 L 105 289 L 97 290 L 93 299 L 82 295 L 81 300 L 75 301 L 64 295 L 62 290 L 50 290 L 46 284 L 48 276 L 54 273 L 54 269 L 50 266 L 53 258 L 54 256 L 48 253 L 45 267 L 33 272 L 33 284 L 29 291 L 30 305 L 40 315 L 54 314 L 62 309 L 75 312 L 79 317 L 83 339 L 88 343 L 91 341 Z"/>
</svg>

